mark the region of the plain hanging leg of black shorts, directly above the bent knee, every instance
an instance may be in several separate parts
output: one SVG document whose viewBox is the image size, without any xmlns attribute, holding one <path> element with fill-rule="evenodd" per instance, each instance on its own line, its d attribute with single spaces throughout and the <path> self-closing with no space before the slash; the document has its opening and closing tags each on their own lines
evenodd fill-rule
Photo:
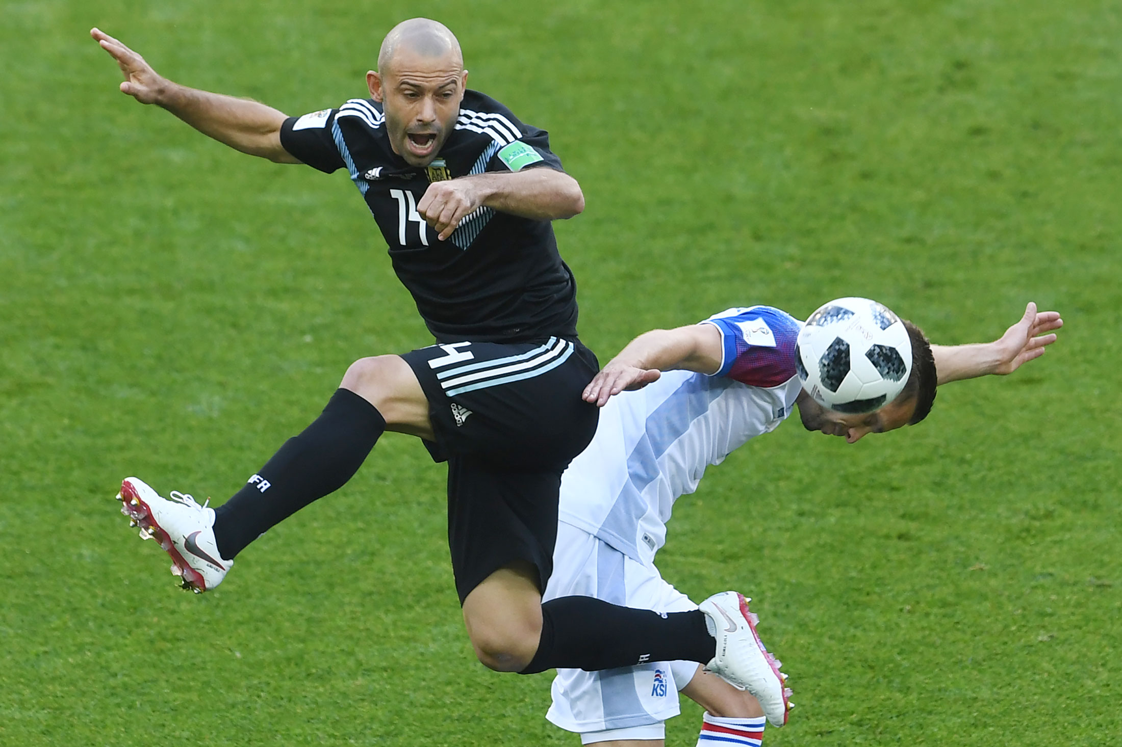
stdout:
<svg viewBox="0 0 1122 747">
<path fill-rule="evenodd" d="M 495 571 L 522 561 L 537 593 L 553 572 L 561 470 L 513 470 L 472 455 L 448 460 L 448 545 L 462 605 Z"/>
</svg>

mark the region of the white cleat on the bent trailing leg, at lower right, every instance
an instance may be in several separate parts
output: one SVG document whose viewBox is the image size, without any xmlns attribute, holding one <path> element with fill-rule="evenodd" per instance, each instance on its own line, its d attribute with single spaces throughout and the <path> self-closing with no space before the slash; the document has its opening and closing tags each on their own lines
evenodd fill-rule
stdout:
<svg viewBox="0 0 1122 747">
<path fill-rule="evenodd" d="M 737 690 L 747 690 L 760 701 L 772 726 L 787 723 L 791 689 L 781 663 L 767 653 L 756 634 L 758 618 L 748 611 L 748 599 L 735 591 L 723 591 L 701 602 L 700 609 L 712 622 L 717 655 L 706 664 L 707 672 L 720 676 Z"/>
</svg>

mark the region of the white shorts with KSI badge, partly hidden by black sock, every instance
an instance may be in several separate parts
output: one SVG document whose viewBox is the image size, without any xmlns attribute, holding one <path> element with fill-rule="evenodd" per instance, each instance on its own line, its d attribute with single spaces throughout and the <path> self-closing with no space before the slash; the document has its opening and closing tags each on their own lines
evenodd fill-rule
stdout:
<svg viewBox="0 0 1122 747">
<path fill-rule="evenodd" d="M 553 575 L 543 599 L 595 597 L 655 612 L 698 606 L 666 583 L 659 569 L 624 555 L 565 523 L 558 525 Z M 601 672 L 558 670 L 553 704 L 545 714 L 583 744 L 614 739 L 663 739 L 663 721 L 678 716 L 678 691 L 697 673 L 697 662 L 649 662 Z"/>
</svg>

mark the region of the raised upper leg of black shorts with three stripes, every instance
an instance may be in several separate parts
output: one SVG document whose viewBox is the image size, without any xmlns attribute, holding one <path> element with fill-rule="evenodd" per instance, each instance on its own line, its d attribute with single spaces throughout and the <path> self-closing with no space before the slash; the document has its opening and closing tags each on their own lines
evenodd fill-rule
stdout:
<svg viewBox="0 0 1122 747">
<path fill-rule="evenodd" d="M 577 341 L 442 343 L 403 358 L 429 402 L 438 460 L 563 469 L 596 432 L 598 408 L 581 399 L 596 357 Z"/>
</svg>

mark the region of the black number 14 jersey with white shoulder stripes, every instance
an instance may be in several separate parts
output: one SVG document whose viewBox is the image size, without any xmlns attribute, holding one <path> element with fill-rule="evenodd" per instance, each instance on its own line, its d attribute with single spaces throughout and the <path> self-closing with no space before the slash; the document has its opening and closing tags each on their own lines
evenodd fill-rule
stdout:
<svg viewBox="0 0 1122 747">
<path fill-rule="evenodd" d="M 373 100 L 289 118 L 280 144 L 322 172 L 350 172 L 389 245 L 397 277 L 438 341 L 576 336 L 577 286 L 550 221 L 479 208 L 440 241 L 416 210 L 433 181 L 534 166 L 562 170 L 545 130 L 466 91 L 456 127 L 427 167 L 394 153 L 381 104 Z"/>
</svg>

